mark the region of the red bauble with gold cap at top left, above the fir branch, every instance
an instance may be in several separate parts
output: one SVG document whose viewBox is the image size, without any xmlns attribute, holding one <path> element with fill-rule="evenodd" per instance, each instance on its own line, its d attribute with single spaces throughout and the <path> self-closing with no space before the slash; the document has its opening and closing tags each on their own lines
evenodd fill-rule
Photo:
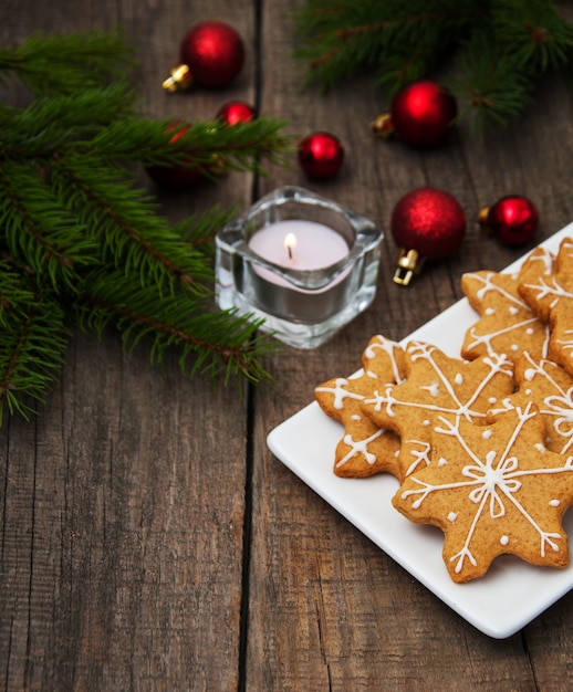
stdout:
<svg viewBox="0 0 573 692">
<path fill-rule="evenodd" d="M 194 82 L 226 86 L 241 71 L 244 45 L 232 27 L 211 20 L 196 24 L 185 34 L 179 56 L 180 63 L 163 83 L 170 93 L 188 88 Z"/>
</svg>

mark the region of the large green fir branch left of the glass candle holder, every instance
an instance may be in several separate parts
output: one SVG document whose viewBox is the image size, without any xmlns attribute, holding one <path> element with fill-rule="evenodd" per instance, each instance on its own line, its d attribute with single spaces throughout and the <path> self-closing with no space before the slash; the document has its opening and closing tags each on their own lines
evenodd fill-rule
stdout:
<svg viewBox="0 0 573 692">
<path fill-rule="evenodd" d="M 0 81 L 34 94 L 0 105 L 0 424 L 45 400 L 74 324 L 114 326 L 126 349 L 148 343 L 152 364 L 177 349 L 185 375 L 269 377 L 261 322 L 213 306 L 213 239 L 233 210 L 169 223 L 138 171 L 263 172 L 292 149 L 284 123 L 181 123 L 174 138 L 173 123 L 136 112 L 131 64 L 115 31 L 0 49 Z"/>
</svg>

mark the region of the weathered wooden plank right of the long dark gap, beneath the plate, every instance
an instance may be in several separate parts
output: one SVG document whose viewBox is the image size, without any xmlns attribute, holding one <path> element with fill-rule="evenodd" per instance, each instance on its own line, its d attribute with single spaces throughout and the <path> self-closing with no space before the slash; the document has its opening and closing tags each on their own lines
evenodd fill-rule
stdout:
<svg viewBox="0 0 573 692">
<path fill-rule="evenodd" d="M 275 364 L 279 392 L 256 395 L 256 410 L 265 415 L 256 418 L 247 680 L 252 689 L 273 690 L 565 690 L 571 597 L 521 635 L 504 641 L 485 637 L 283 469 L 267 451 L 265 436 L 312 400 L 313 386 L 353 373 L 373 334 L 405 337 L 460 297 L 463 271 L 502 269 L 525 250 L 483 237 L 475 223 L 481 206 L 504 193 L 529 196 L 542 212 L 535 242 L 573 218 L 569 191 L 553 174 L 562 176 L 570 166 L 563 144 L 570 139 L 571 99 L 560 85 L 546 85 L 546 96 L 523 123 L 486 140 L 462 126 L 447 147 L 428 153 L 373 143 L 367 124 L 387 104 L 362 81 L 325 97 L 301 92 L 294 66 L 285 69 L 294 35 L 283 8 L 265 3 L 262 103 L 288 112 L 301 135 L 337 134 L 347 159 L 334 181 L 308 180 L 295 168 L 277 171 L 265 189 L 277 182 L 310 187 L 387 231 L 399 197 L 433 185 L 460 200 L 468 231 L 459 253 L 427 266 L 407 290 L 392 283 L 395 247 L 388 235 L 373 307 L 320 352 L 290 352 Z"/>
</svg>

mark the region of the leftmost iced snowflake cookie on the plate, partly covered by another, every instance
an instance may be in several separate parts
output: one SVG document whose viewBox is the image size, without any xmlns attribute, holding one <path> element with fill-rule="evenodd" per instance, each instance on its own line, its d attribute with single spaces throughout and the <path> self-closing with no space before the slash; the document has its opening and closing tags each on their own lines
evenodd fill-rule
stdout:
<svg viewBox="0 0 573 692">
<path fill-rule="evenodd" d="M 402 381 L 404 352 L 383 336 L 375 336 L 362 355 L 362 370 L 353 377 L 336 377 L 315 388 L 315 399 L 325 413 L 344 426 L 336 445 L 334 473 L 364 478 L 387 472 L 399 478 L 399 440 L 361 410 L 361 402 L 375 387 Z"/>
</svg>

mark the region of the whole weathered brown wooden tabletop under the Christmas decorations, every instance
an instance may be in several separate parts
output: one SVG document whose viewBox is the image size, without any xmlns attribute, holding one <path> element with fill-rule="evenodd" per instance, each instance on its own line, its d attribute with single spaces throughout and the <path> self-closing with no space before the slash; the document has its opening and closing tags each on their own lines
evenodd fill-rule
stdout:
<svg viewBox="0 0 573 692">
<path fill-rule="evenodd" d="M 32 31 L 119 24 L 133 40 L 142 107 L 209 118 L 243 99 L 305 135 L 335 133 L 346 161 L 333 180 L 270 168 L 231 175 L 200 195 L 163 193 L 170 218 L 215 205 L 247 208 L 302 185 L 387 231 L 398 199 L 433 185 L 469 219 L 450 260 L 409 287 L 393 283 L 382 248 L 374 305 L 323 347 L 267 363 L 275 389 L 212 388 L 165 375 L 114 334 L 77 334 L 62 377 L 31 422 L 1 433 L 0 680 L 7 690 L 571 690 L 573 598 L 520 633 L 494 640 L 420 586 L 268 450 L 265 437 L 313 398 L 313 387 L 358 365 L 367 339 L 402 339 L 458 300 L 462 272 L 499 270 L 527 248 L 486 238 L 479 209 L 506 193 L 541 211 L 535 242 L 573 220 L 573 103 L 544 83 L 522 122 L 480 139 L 461 126 L 420 151 L 373 140 L 388 103 L 367 78 L 322 97 L 301 88 L 291 52 L 294 0 L 3 0 L 2 44 Z M 184 32 L 225 18 L 247 61 L 223 91 L 166 95 L 162 81 Z M 18 93 L 9 83 L 4 97 Z M 534 244 L 534 243 L 532 243 Z"/>
</svg>

